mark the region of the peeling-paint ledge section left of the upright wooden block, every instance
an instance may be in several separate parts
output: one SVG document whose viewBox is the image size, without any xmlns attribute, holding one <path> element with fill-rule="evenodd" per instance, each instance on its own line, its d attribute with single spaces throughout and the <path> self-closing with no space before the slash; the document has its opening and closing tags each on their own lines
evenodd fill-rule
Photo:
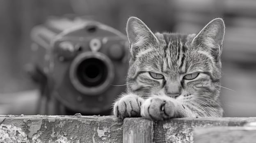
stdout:
<svg viewBox="0 0 256 143">
<path fill-rule="evenodd" d="M 0 142 L 122 143 L 113 116 L 0 116 Z"/>
</svg>

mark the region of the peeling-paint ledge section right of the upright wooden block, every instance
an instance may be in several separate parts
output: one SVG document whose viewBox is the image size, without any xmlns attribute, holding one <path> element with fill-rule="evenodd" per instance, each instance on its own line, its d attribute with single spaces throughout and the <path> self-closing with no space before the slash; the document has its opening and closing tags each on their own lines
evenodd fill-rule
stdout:
<svg viewBox="0 0 256 143">
<path fill-rule="evenodd" d="M 174 118 L 154 124 L 155 143 L 192 143 L 196 127 L 242 126 L 256 118 Z"/>
</svg>

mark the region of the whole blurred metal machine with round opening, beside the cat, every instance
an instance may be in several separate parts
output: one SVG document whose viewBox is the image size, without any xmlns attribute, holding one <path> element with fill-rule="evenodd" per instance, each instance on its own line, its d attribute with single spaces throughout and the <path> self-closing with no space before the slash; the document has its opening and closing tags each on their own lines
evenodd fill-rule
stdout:
<svg viewBox="0 0 256 143">
<path fill-rule="evenodd" d="M 30 74 L 41 96 L 83 114 L 110 111 L 125 91 L 128 40 L 120 31 L 84 18 L 49 18 L 31 32 Z M 63 113 L 56 113 L 63 114 Z"/>
</svg>

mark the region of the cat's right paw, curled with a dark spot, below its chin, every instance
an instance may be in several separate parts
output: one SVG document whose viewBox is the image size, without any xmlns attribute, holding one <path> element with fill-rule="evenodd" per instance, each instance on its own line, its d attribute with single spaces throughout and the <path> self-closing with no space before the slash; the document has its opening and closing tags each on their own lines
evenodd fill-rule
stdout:
<svg viewBox="0 0 256 143">
<path fill-rule="evenodd" d="M 174 117 L 175 105 L 168 97 L 151 97 L 142 104 L 142 117 L 159 121 Z"/>
</svg>

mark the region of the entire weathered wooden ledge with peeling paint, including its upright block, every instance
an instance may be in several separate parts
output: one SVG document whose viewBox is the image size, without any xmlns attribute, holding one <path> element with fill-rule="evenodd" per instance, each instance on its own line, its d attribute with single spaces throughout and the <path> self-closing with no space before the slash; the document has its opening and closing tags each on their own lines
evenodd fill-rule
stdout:
<svg viewBox="0 0 256 143">
<path fill-rule="evenodd" d="M 196 127 L 243 126 L 254 121 L 256 118 L 174 118 L 153 122 L 144 118 L 119 121 L 113 116 L 0 115 L 0 142 L 190 143 Z"/>
</svg>

